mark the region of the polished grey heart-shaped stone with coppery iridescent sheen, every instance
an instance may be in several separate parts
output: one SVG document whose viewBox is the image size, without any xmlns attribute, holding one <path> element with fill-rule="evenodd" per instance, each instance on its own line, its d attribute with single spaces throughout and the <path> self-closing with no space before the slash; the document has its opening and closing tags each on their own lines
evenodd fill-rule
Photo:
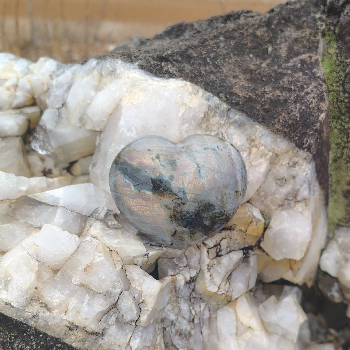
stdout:
<svg viewBox="0 0 350 350">
<path fill-rule="evenodd" d="M 110 188 L 121 214 L 141 233 L 184 249 L 230 221 L 245 196 L 247 172 L 224 139 L 200 134 L 175 144 L 147 136 L 118 153 Z"/>
</svg>

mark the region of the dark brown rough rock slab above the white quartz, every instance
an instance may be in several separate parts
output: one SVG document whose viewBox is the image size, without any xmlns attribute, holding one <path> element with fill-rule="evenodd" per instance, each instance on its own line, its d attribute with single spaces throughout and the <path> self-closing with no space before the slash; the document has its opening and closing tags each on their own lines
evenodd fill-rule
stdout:
<svg viewBox="0 0 350 350">
<path fill-rule="evenodd" d="M 295 1 L 266 14 L 240 11 L 179 23 L 107 57 L 193 82 L 311 152 L 327 193 L 328 101 L 320 52 L 325 5 Z"/>
</svg>

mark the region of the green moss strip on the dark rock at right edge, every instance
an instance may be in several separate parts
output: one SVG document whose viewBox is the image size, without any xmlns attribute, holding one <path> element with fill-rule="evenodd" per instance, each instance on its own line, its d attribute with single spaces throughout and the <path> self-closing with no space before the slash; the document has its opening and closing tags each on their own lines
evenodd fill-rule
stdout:
<svg viewBox="0 0 350 350">
<path fill-rule="evenodd" d="M 350 226 L 350 66 L 339 49 L 337 26 L 325 29 L 323 69 L 329 99 L 329 229 Z"/>
</svg>

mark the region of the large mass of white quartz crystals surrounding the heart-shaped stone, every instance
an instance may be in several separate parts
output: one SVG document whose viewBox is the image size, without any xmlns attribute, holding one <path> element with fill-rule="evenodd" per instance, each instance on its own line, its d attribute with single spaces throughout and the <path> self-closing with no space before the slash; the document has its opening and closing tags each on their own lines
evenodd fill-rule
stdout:
<svg viewBox="0 0 350 350">
<path fill-rule="evenodd" d="M 111 58 L 0 54 L 0 107 L 3 313 L 80 349 L 334 349 L 310 343 L 298 288 L 263 283 L 314 279 L 327 218 L 309 153 L 191 83 Z M 176 250 L 119 213 L 109 170 L 137 138 L 193 134 L 239 150 L 247 190 L 223 230 Z M 337 264 L 324 269 L 347 286 Z"/>
</svg>

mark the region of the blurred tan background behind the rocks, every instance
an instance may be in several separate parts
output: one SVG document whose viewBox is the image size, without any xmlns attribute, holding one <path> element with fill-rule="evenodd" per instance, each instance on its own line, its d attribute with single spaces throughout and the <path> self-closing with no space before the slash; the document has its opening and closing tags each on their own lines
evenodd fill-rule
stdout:
<svg viewBox="0 0 350 350">
<path fill-rule="evenodd" d="M 266 12 L 284 0 L 0 0 L 0 51 L 80 61 L 136 35 L 232 10 Z"/>
</svg>

